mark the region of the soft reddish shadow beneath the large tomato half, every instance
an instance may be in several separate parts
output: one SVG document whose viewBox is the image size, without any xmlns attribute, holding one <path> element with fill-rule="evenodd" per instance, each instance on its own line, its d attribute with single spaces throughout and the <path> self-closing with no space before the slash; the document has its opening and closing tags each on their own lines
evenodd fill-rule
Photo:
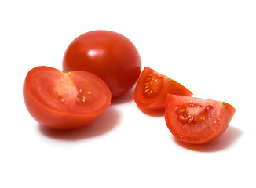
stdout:
<svg viewBox="0 0 256 188">
<path fill-rule="evenodd" d="M 85 125 L 82 128 L 76 128 L 67 131 L 58 131 L 51 128 L 47 128 L 43 125 L 38 125 L 39 131 L 44 135 L 52 139 L 64 139 L 69 141 L 76 141 L 80 139 L 90 139 L 97 136 L 102 136 L 107 132 L 112 131 L 113 128 L 118 125 L 120 114 L 115 108 L 108 107 L 107 110 L 101 114 L 100 117 L 89 125 Z"/>
</svg>

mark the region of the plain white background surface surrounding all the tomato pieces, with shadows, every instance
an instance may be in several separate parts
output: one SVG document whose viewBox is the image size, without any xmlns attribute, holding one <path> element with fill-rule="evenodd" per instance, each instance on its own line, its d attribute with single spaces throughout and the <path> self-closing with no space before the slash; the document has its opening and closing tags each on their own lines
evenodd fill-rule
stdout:
<svg viewBox="0 0 256 188">
<path fill-rule="evenodd" d="M 0 2 L 0 187 L 255 187 L 256 2 Z M 64 50 L 87 31 L 125 35 L 144 66 L 236 107 L 213 143 L 188 146 L 163 113 L 144 114 L 133 90 L 96 121 L 52 132 L 28 114 L 27 71 L 61 69 Z"/>
</svg>

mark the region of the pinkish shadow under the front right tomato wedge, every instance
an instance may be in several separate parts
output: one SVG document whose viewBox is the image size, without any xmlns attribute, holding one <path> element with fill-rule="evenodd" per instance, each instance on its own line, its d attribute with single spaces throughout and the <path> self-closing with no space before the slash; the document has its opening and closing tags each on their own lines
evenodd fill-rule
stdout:
<svg viewBox="0 0 256 188">
<path fill-rule="evenodd" d="M 231 146 L 233 146 L 237 139 L 239 139 L 240 136 L 243 135 L 243 132 L 234 127 L 229 127 L 223 135 L 221 135 L 218 139 L 215 139 L 211 141 L 210 143 L 203 143 L 203 144 L 189 144 L 181 142 L 180 140 L 174 138 L 174 141 L 188 149 L 188 150 L 194 150 L 199 152 L 214 152 L 214 151 L 220 151 L 220 150 L 226 150 L 229 149 Z"/>
</svg>

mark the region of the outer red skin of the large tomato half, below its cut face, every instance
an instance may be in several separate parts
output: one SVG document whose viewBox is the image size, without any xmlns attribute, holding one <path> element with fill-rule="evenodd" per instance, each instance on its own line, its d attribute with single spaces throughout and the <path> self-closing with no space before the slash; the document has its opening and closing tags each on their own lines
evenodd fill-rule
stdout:
<svg viewBox="0 0 256 188">
<path fill-rule="evenodd" d="M 53 69 L 52 67 L 40 67 L 40 68 Z M 27 107 L 28 112 L 35 119 L 35 121 L 37 121 L 41 125 L 44 125 L 46 127 L 53 128 L 56 130 L 69 130 L 74 128 L 80 128 L 94 121 L 110 105 L 111 93 L 109 91 L 108 93 L 109 102 L 106 104 L 104 109 L 98 110 L 93 114 L 75 114 L 68 111 L 63 112 L 63 111 L 58 111 L 58 110 L 54 110 L 49 107 L 46 107 L 46 105 L 43 105 L 42 103 L 40 103 L 40 100 L 37 98 L 37 96 L 32 94 L 31 89 L 29 87 L 30 74 L 36 69 L 38 69 L 38 67 L 35 67 L 31 71 L 29 71 L 27 74 L 27 77 L 23 85 L 23 96 L 24 96 L 24 103 Z"/>
</svg>

